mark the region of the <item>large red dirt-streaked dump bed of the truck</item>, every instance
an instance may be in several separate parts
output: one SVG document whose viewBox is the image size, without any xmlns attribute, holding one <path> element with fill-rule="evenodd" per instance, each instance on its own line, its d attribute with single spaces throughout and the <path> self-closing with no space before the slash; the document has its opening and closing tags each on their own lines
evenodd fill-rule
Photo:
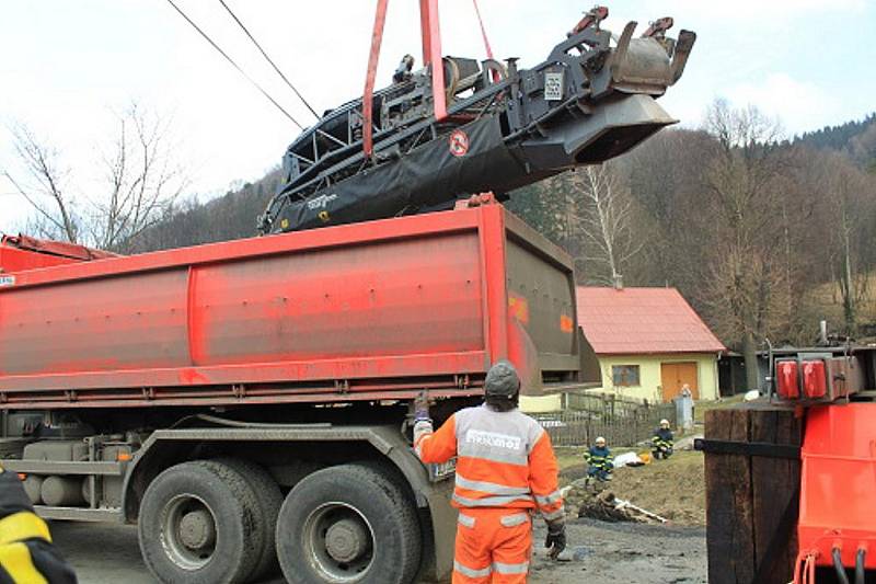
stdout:
<svg viewBox="0 0 876 584">
<path fill-rule="evenodd" d="M 569 259 L 499 205 L 23 271 L 0 409 L 331 402 L 578 379 Z"/>
</svg>

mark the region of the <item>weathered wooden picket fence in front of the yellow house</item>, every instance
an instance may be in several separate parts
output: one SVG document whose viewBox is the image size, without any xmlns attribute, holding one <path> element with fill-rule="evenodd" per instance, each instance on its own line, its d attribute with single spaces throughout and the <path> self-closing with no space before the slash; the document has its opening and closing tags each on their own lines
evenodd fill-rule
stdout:
<svg viewBox="0 0 876 584">
<path fill-rule="evenodd" d="M 634 446 L 647 440 L 661 419 L 676 425 L 673 403 L 649 404 L 611 394 L 567 396 L 562 412 L 535 414 L 554 446 L 588 446 L 603 436 L 612 446 Z"/>
</svg>

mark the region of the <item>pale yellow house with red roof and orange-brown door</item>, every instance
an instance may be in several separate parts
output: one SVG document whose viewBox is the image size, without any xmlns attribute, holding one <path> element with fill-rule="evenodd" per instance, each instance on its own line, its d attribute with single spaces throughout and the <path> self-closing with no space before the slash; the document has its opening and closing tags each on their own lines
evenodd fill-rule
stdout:
<svg viewBox="0 0 876 584">
<path fill-rule="evenodd" d="M 580 286 L 576 296 L 602 370 L 602 387 L 590 391 L 661 402 L 688 386 L 694 399 L 717 399 L 726 348 L 677 289 Z M 564 406 L 562 394 L 521 398 L 528 412 Z"/>
</svg>

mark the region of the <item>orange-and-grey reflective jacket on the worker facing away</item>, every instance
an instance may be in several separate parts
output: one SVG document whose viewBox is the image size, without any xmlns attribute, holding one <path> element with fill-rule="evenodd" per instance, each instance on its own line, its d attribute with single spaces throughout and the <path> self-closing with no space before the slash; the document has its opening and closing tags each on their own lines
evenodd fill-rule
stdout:
<svg viewBox="0 0 876 584">
<path fill-rule="evenodd" d="M 435 433 L 430 422 L 418 422 L 414 447 L 424 462 L 458 457 L 454 507 L 538 508 L 549 522 L 564 516 L 551 438 L 520 410 L 466 408 Z"/>
</svg>

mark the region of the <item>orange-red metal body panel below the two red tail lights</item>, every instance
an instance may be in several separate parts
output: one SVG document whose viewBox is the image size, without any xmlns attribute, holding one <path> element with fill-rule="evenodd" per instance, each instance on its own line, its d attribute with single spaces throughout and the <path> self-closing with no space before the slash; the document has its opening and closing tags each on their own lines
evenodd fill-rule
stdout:
<svg viewBox="0 0 876 584">
<path fill-rule="evenodd" d="M 800 556 L 855 565 L 860 548 L 876 569 L 876 403 L 815 406 L 807 413 L 798 522 Z"/>
</svg>

